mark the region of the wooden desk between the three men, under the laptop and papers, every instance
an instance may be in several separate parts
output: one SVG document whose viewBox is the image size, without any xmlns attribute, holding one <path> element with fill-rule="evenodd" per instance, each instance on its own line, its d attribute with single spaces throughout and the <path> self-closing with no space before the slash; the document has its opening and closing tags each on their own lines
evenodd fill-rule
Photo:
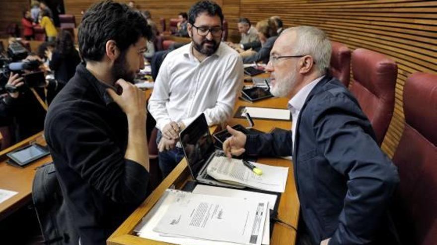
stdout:
<svg viewBox="0 0 437 245">
<path fill-rule="evenodd" d="M 285 98 L 270 98 L 255 103 L 245 102 L 237 100 L 235 110 L 241 106 L 258 106 L 258 107 L 273 107 L 273 108 L 285 108 L 288 99 Z M 245 119 L 231 118 L 230 125 L 240 123 L 247 125 Z M 284 121 L 271 121 L 254 119 L 255 129 L 265 132 L 270 131 L 273 127 L 279 127 L 283 129 L 291 129 L 291 122 Z M 214 129 L 213 129 L 214 130 Z M 258 160 L 261 163 L 269 163 L 275 166 L 289 167 L 289 175 L 287 179 L 286 192 L 281 195 L 278 208 L 278 218 L 293 227 L 297 227 L 298 215 L 299 215 L 299 200 L 297 198 L 296 187 L 294 183 L 293 168 L 291 161 L 279 158 L 261 158 Z M 184 184 L 191 179 L 187 162 L 184 159 L 176 166 L 176 168 L 164 179 L 164 181 L 153 191 L 153 193 L 146 198 L 146 200 L 135 210 L 131 216 L 109 237 L 107 240 L 108 245 L 157 245 L 167 244 L 148 240 L 137 237 L 133 234 L 135 226 L 141 221 L 141 219 L 150 211 L 153 205 L 162 196 L 164 191 L 170 186 L 174 185 L 176 189 L 181 189 Z M 275 223 L 272 238 L 270 240 L 271 245 L 289 244 L 293 245 L 296 239 L 296 232 L 291 228 L 279 223 Z"/>
</svg>

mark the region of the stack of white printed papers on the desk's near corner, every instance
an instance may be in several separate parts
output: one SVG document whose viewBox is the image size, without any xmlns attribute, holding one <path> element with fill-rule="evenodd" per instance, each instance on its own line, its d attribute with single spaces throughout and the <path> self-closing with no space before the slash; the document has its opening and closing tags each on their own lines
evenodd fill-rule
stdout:
<svg viewBox="0 0 437 245">
<path fill-rule="evenodd" d="M 134 231 L 143 238 L 180 245 L 269 244 L 268 199 L 273 198 L 166 190 Z"/>
</svg>

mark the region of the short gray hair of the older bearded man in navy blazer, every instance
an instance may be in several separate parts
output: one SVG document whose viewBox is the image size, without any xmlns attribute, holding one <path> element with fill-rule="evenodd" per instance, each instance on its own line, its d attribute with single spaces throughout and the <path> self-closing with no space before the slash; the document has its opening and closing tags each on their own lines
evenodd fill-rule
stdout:
<svg viewBox="0 0 437 245">
<path fill-rule="evenodd" d="M 295 55 L 311 55 L 320 75 L 326 74 L 331 62 L 331 42 L 324 31 L 313 26 L 295 26 L 282 34 L 294 31 L 296 43 L 293 47 Z"/>
</svg>

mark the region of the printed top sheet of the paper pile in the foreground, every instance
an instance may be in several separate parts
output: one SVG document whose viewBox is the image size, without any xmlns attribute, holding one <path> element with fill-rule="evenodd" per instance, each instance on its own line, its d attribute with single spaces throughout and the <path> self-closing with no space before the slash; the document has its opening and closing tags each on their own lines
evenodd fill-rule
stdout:
<svg viewBox="0 0 437 245">
<path fill-rule="evenodd" d="M 268 202 L 180 192 L 153 229 L 164 236 L 261 245 Z"/>
</svg>

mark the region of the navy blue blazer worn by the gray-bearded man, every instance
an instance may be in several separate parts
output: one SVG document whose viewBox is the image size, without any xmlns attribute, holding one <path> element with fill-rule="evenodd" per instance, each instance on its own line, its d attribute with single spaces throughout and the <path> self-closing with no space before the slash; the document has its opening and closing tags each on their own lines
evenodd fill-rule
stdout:
<svg viewBox="0 0 437 245">
<path fill-rule="evenodd" d="M 292 154 L 300 215 L 314 244 L 379 244 L 399 177 L 356 98 L 325 76 L 293 123 L 293 150 L 290 131 L 248 135 L 246 153 Z"/>
</svg>

